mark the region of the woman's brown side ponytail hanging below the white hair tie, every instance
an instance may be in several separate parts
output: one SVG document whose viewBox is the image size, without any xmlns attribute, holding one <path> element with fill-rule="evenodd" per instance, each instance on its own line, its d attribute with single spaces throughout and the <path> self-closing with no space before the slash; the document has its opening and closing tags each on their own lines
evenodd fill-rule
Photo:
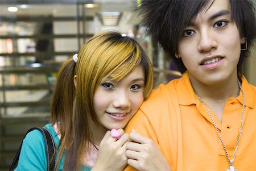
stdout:
<svg viewBox="0 0 256 171">
<path fill-rule="evenodd" d="M 63 141 L 67 138 L 65 136 L 65 130 L 72 130 L 72 113 L 73 103 L 76 96 L 76 87 L 73 82 L 75 76 L 76 63 L 73 59 L 69 59 L 61 66 L 55 89 L 51 98 L 51 122 L 52 125 L 60 123 L 61 139 L 57 148 L 63 144 Z M 65 144 L 65 143 L 64 143 Z M 65 147 L 60 148 L 59 157 L 55 169 L 59 168 L 61 156 L 63 156 Z"/>
</svg>

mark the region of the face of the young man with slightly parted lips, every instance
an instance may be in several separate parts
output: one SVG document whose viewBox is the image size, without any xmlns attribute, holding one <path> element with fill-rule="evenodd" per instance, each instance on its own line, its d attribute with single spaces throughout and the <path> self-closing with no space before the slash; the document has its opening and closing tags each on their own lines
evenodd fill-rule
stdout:
<svg viewBox="0 0 256 171">
<path fill-rule="evenodd" d="M 215 0 L 185 28 L 177 56 L 192 83 L 219 84 L 237 77 L 241 43 L 245 41 L 232 22 L 229 1 Z"/>
</svg>

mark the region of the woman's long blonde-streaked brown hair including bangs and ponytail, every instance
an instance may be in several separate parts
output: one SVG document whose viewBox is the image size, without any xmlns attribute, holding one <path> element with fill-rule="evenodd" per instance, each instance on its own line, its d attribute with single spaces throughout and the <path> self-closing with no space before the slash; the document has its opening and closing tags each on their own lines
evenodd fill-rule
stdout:
<svg viewBox="0 0 256 171">
<path fill-rule="evenodd" d="M 153 70 L 142 47 L 131 37 L 117 31 L 101 32 L 89 39 L 78 53 L 77 63 L 72 59 L 61 66 L 51 100 L 52 123 L 60 123 L 59 166 L 65 149 L 64 170 L 80 169 L 80 159 L 87 152 L 92 124 L 97 123 L 93 97 L 104 77 L 111 74 L 120 81 L 138 66 L 145 74 L 143 97 L 150 94 Z M 73 77 L 77 76 L 76 87 Z"/>
</svg>

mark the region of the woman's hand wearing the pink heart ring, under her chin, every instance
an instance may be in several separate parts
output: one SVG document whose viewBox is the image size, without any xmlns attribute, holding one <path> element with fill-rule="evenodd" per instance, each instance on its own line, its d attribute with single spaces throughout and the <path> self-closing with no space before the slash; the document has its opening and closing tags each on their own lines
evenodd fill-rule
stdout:
<svg viewBox="0 0 256 171">
<path fill-rule="evenodd" d="M 110 135 L 110 131 L 106 132 L 105 136 L 101 140 L 96 164 L 93 166 L 92 171 L 118 171 L 123 170 L 127 165 L 125 151 L 129 135 L 124 133 L 122 129 L 117 131 L 122 134 L 119 140 L 112 137 Z"/>
</svg>

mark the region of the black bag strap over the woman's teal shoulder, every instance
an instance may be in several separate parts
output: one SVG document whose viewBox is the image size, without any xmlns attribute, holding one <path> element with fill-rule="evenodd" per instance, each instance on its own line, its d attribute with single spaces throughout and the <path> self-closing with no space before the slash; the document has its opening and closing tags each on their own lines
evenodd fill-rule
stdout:
<svg viewBox="0 0 256 171">
<path fill-rule="evenodd" d="M 46 130 L 46 128 L 34 127 L 27 131 L 27 133 L 23 137 L 23 140 L 28 134 L 28 132 L 31 132 L 33 130 L 39 130 L 43 134 L 44 144 L 46 145 L 47 171 L 54 170 L 54 166 L 56 165 L 56 152 L 55 152 L 55 144 L 51 134 Z M 10 169 L 9 169 L 10 171 L 13 171 L 18 165 L 19 155 L 22 148 L 23 140 L 19 146 L 16 156 L 14 157 L 13 163 L 10 166 Z"/>
</svg>

